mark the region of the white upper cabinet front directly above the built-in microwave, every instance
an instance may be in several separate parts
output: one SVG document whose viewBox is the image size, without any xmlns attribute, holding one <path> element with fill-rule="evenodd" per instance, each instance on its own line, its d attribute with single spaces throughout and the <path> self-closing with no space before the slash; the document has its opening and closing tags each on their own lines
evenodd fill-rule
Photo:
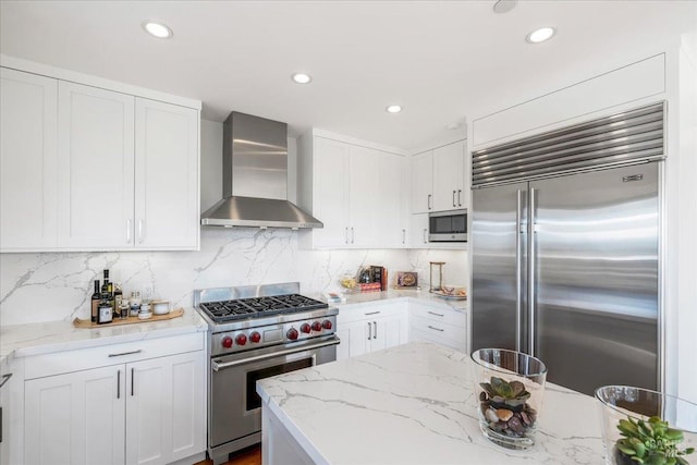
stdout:
<svg viewBox="0 0 697 465">
<path fill-rule="evenodd" d="M 463 207 L 465 144 L 457 142 L 433 149 L 433 210 Z"/>
</svg>

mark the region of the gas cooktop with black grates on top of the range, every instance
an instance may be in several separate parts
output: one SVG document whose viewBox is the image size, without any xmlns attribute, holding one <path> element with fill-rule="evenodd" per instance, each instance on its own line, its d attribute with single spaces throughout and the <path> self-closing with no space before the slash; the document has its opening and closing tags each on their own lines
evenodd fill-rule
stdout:
<svg viewBox="0 0 697 465">
<path fill-rule="evenodd" d="M 232 321 L 260 318 L 293 311 L 328 308 L 329 305 L 299 294 L 248 297 L 234 301 L 206 302 L 199 304 L 213 321 Z"/>
</svg>

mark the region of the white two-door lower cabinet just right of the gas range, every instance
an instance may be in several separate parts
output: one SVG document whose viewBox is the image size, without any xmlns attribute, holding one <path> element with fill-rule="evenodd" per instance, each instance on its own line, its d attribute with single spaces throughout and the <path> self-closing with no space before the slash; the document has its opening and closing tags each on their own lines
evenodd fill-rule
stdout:
<svg viewBox="0 0 697 465">
<path fill-rule="evenodd" d="M 339 360 L 404 344 L 408 339 L 408 315 L 403 304 L 344 307 L 339 311 L 337 326 L 341 339 L 337 348 Z"/>
</svg>

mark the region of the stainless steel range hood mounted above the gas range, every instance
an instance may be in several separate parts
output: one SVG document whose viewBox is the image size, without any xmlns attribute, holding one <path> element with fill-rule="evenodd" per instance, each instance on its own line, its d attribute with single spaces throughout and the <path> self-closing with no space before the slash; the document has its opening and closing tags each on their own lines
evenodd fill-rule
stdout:
<svg viewBox="0 0 697 465">
<path fill-rule="evenodd" d="M 233 111 L 222 145 L 223 198 L 201 215 L 203 225 L 323 227 L 288 200 L 288 124 Z"/>
</svg>

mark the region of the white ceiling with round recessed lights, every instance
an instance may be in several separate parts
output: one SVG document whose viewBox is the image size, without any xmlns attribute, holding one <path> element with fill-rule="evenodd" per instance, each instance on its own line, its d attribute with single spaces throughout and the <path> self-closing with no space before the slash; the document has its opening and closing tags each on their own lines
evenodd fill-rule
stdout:
<svg viewBox="0 0 697 465">
<path fill-rule="evenodd" d="M 697 1 L 4 1 L 4 54 L 405 149 L 661 50 Z M 146 35 L 157 20 L 169 40 Z M 552 25 L 549 42 L 525 35 Z M 295 71 L 310 85 L 294 84 Z M 572 77 L 573 76 L 573 77 Z M 388 114 L 400 103 L 404 111 Z M 462 130 L 458 130 L 462 131 Z"/>
</svg>

